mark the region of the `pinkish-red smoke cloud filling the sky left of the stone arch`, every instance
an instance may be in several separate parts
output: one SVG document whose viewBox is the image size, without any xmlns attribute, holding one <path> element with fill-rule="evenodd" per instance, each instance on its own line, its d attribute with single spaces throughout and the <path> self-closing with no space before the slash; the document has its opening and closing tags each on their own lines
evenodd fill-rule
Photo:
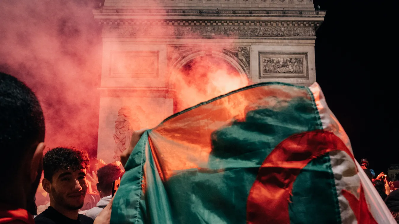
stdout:
<svg viewBox="0 0 399 224">
<path fill-rule="evenodd" d="M 82 1 L 81 1 L 82 2 Z M 38 96 L 46 145 L 97 150 L 101 27 L 79 1 L 0 2 L 0 70 Z"/>
</svg>

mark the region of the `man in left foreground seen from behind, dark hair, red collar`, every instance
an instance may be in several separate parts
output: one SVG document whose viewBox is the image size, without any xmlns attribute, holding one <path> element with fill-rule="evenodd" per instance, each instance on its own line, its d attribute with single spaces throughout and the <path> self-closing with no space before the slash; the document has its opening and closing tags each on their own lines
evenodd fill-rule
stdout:
<svg viewBox="0 0 399 224">
<path fill-rule="evenodd" d="M 0 72 L 0 224 L 34 223 L 44 135 L 43 111 L 35 94 Z"/>
</svg>

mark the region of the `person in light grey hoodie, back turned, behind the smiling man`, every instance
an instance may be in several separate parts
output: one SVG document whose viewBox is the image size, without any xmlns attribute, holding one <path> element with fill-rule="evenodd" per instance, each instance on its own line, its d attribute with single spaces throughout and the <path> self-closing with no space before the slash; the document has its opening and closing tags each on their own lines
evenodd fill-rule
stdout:
<svg viewBox="0 0 399 224">
<path fill-rule="evenodd" d="M 100 193 L 101 200 L 94 208 L 80 212 L 90 218 L 95 219 L 97 215 L 108 205 L 111 201 L 112 183 L 114 180 L 120 179 L 122 170 L 115 164 L 107 164 L 97 170 L 97 190 Z"/>
</svg>

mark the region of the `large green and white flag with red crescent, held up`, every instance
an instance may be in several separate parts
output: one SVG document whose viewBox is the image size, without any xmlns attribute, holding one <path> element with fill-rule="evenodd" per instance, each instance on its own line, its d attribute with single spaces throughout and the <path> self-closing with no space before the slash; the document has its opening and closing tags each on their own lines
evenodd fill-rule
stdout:
<svg viewBox="0 0 399 224">
<path fill-rule="evenodd" d="M 111 223 L 395 223 L 317 83 L 260 83 L 172 115 L 126 163 Z"/>
</svg>

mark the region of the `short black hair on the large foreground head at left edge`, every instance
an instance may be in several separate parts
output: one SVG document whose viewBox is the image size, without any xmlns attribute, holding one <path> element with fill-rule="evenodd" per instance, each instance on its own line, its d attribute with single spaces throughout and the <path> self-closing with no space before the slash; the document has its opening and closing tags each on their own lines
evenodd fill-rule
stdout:
<svg viewBox="0 0 399 224">
<path fill-rule="evenodd" d="M 34 154 L 44 135 L 43 111 L 35 93 L 17 78 L 0 72 L 0 168 L 18 168 L 27 153 Z M 5 171 L 0 177 L 13 175 Z"/>
</svg>

